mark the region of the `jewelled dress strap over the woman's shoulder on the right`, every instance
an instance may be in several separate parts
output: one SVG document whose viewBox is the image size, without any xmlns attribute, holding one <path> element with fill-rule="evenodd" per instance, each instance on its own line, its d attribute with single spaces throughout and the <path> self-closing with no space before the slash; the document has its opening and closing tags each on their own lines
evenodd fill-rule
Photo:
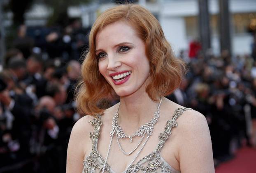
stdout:
<svg viewBox="0 0 256 173">
<path fill-rule="evenodd" d="M 186 110 L 192 110 L 191 108 L 178 108 L 175 110 L 173 116 L 172 116 L 172 119 L 171 120 L 168 120 L 166 122 L 166 125 L 165 125 L 165 128 L 164 128 L 164 131 L 163 133 L 160 133 L 159 135 L 159 143 L 158 143 L 158 146 L 156 148 L 156 153 L 160 153 L 163 146 L 165 145 L 165 141 L 167 141 L 167 139 L 170 137 L 170 134 L 172 133 L 171 130 L 172 130 L 172 127 L 177 127 L 178 126 L 178 123 L 177 123 L 177 118 L 179 118 L 179 116 L 181 116 Z"/>
</svg>

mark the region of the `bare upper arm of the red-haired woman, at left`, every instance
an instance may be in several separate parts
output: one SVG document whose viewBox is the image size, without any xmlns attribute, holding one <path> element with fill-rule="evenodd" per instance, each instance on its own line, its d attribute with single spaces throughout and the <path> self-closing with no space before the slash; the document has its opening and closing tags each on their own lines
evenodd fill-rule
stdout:
<svg viewBox="0 0 256 173">
<path fill-rule="evenodd" d="M 86 153 L 85 146 L 90 142 L 88 123 L 89 116 L 84 116 L 75 123 L 68 147 L 67 147 L 67 167 L 66 173 L 81 173 L 83 169 L 83 160 Z M 91 146 L 91 145 L 90 145 Z"/>
</svg>

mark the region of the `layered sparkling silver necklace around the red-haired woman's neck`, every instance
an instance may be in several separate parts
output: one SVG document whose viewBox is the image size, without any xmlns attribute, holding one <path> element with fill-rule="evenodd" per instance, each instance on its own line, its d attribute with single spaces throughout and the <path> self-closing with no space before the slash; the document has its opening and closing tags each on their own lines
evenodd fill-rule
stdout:
<svg viewBox="0 0 256 173">
<path fill-rule="evenodd" d="M 160 109 L 162 100 L 163 100 L 163 97 L 161 96 L 160 97 L 160 101 L 158 103 L 158 107 L 156 109 L 156 112 L 154 113 L 153 118 L 148 123 L 146 123 L 144 125 L 141 125 L 139 127 L 139 129 L 133 135 L 131 135 L 131 136 L 125 134 L 123 132 L 122 127 L 118 124 L 117 120 L 118 120 L 118 112 L 119 112 L 119 107 L 120 107 L 120 104 L 119 104 L 119 106 L 117 108 L 117 111 L 116 111 L 116 113 L 115 113 L 115 115 L 113 117 L 113 120 L 112 120 L 112 130 L 110 132 L 111 139 L 110 139 L 110 142 L 109 142 L 109 147 L 108 147 L 108 150 L 107 150 L 107 156 L 106 156 L 106 159 L 105 159 L 105 163 L 104 163 L 104 166 L 103 166 L 102 173 L 104 173 L 104 171 L 105 171 L 105 167 L 106 167 L 106 163 L 107 163 L 107 159 L 108 159 L 108 156 L 109 156 L 109 152 L 110 152 L 110 148 L 111 148 L 111 145 L 112 145 L 112 139 L 113 139 L 114 134 L 116 134 L 116 140 L 117 140 L 118 146 L 119 146 L 121 152 L 124 155 L 131 155 L 140 146 L 140 144 L 142 143 L 145 135 L 147 135 L 147 138 L 144 141 L 144 143 L 142 144 L 142 146 L 140 147 L 140 150 L 137 152 L 137 154 L 135 155 L 133 160 L 130 162 L 130 164 L 126 168 L 125 173 L 127 172 L 128 168 L 130 168 L 130 166 L 133 164 L 133 162 L 138 157 L 138 155 L 140 154 L 140 152 L 142 151 L 142 149 L 146 145 L 147 141 L 149 140 L 149 137 L 152 135 L 152 132 L 153 132 L 153 129 L 154 129 L 154 125 L 156 124 L 156 122 L 158 121 L 158 118 L 159 118 L 159 109 Z M 133 150 L 131 150 L 130 152 L 127 153 L 126 151 L 123 150 L 123 147 L 121 146 L 121 143 L 119 142 L 119 139 L 120 138 L 128 138 L 129 141 L 132 142 L 133 141 L 133 137 L 136 137 L 136 136 L 137 137 L 141 137 L 140 141 L 133 148 Z"/>
</svg>

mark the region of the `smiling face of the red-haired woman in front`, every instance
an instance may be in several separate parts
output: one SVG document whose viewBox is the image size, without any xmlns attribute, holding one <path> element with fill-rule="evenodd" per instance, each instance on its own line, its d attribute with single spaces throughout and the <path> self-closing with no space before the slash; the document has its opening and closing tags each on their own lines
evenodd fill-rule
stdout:
<svg viewBox="0 0 256 173">
<path fill-rule="evenodd" d="M 95 39 L 99 71 L 120 97 L 145 91 L 149 60 L 145 44 L 125 22 L 105 26 Z"/>
</svg>

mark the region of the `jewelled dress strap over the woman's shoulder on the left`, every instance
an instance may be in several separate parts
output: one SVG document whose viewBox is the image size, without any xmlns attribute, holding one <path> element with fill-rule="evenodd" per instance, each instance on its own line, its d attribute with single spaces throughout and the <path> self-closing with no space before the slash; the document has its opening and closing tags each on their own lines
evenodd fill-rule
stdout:
<svg viewBox="0 0 256 173">
<path fill-rule="evenodd" d="M 97 150 L 98 139 L 100 138 L 100 128 L 102 125 L 101 115 L 96 115 L 92 121 L 89 121 L 94 127 L 94 132 L 90 132 L 90 138 L 92 140 L 92 151 Z"/>
</svg>

